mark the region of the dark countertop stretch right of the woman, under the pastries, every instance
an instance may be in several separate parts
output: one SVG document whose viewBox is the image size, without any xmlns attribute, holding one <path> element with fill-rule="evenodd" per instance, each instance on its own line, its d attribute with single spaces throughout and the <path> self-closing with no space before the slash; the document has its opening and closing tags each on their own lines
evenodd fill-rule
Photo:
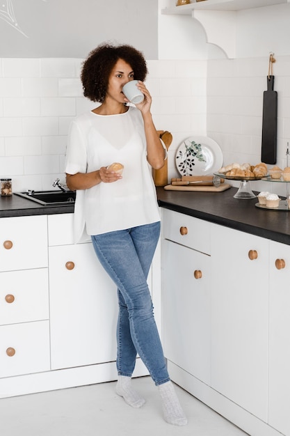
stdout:
<svg viewBox="0 0 290 436">
<path fill-rule="evenodd" d="M 237 189 L 224 192 L 166 191 L 157 188 L 159 205 L 191 217 L 290 245 L 290 212 L 256 208 L 257 198 L 234 198 Z"/>
</svg>

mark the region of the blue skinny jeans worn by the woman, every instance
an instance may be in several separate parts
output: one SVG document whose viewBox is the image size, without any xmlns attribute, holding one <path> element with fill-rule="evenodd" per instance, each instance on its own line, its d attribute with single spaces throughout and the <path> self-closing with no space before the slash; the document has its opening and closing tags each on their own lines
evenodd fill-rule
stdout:
<svg viewBox="0 0 290 436">
<path fill-rule="evenodd" d="M 156 385 L 170 380 L 147 285 L 160 222 L 93 235 L 100 263 L 118 286 L 117 368 L 131 377 L 140 356 Z"/>
</svg>

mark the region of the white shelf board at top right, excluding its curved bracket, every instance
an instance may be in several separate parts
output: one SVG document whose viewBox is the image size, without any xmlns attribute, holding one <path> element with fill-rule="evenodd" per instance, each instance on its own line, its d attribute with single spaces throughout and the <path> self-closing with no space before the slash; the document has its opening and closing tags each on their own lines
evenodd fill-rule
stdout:
<svg viewBox="0 0 290 436">
<path fill-rule="evenodd" d="M 193 10 L 243 10 L 289 3 L 290 0 L 204 0 L 161 10 L 162 14 L 191 15 Z"/>
</svg>

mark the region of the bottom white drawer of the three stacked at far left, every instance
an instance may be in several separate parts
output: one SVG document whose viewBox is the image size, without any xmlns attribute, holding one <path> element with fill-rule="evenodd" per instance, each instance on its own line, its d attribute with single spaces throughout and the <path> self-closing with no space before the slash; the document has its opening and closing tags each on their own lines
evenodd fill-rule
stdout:
<svg viewBox="0 0 290 436">
<path fill-rule="evenodd" d="M 0 362 L 0 377 L 49 371 L 49 321 L 1 326 Z"/>
</svg>

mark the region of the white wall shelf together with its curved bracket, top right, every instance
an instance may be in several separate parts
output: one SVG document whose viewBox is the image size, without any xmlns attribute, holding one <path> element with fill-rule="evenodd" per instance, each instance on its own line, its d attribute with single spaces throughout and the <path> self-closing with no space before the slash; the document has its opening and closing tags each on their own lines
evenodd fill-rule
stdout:
<svg viewBox="0 0 290 436">
<path fill-rule="evenodd" d="M 236 15 L 239 10 L 290 3 L 290 0 L 204 0 L 161 10 L 164 15 L 191 15 L 202 24 L 207 42 L 236 57 Z M 223 29 L 221 32 L 220 29 Z"/>
</svg>

